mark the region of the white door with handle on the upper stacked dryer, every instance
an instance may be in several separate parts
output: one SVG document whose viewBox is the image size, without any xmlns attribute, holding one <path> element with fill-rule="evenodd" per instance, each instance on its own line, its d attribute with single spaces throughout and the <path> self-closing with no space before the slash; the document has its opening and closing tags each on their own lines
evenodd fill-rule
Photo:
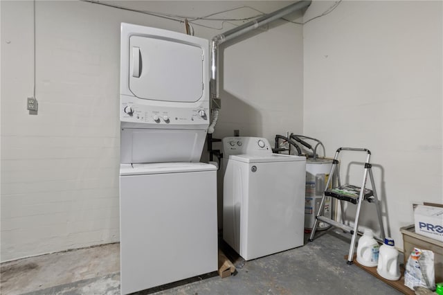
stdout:
<svg viewBox="0 0 443 295">
<path fill-rule="evenodd" d="M 203 51 L 178 40 L 129 38 L 129 89 L 138 98 L 196 102 L 204 95 Z"/>
</svg>

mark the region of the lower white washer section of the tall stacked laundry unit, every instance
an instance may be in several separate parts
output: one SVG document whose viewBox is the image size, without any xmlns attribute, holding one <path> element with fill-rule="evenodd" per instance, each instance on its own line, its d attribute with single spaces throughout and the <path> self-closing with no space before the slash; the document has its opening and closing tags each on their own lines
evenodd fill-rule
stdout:
<svg viewBox="0 0 443 295">
<path fill-rule="evenodd" d="M 215 271 L 216 173 L 206 163 L 120 167 L 122 294 Z"/>
</svg>

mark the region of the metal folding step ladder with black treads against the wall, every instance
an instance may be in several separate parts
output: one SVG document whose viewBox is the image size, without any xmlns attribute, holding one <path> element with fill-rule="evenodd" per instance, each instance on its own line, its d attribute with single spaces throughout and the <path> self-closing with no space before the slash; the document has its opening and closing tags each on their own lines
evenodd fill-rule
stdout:
<svg viewBox="0 0 443 295">
<path fill-rule="evenodd" d="M 350 184 L 341 185 L 340 184 L 340 175 L 339 175 L 339 168 L 338 168 L 338 155 L 341 151 L 353 151 L 353 152 L 366 152 L 366 162 L 365 162 L 365 169 L 363 173 L 363 181 L 361 184 L 361 187 L 358 186 L 352 186 Z M 358 227 L 359 227 L 359 216 L 360 216 L 360 210 L 361 210 L 361 204 L 363 204 L 364 201 L 368 201 L 370 203 L 375 203 L 375 207 L 377 208 L 377 215 L 379 218 L 379 224 L 380 224 L 380 231 L 381 231 L 381 240 L 384 240 L 385 238 L 385 231 L 383 226 L 383 220 L 381 220 L 381 208 L 379 206 L 379 199 L 377 197 L 377 192 L 375 190 L 375 184 L 374 184 L 374 176 L 372 175 L 372 165 L 370 164 L 370 157 L 371 152 L 368 149 L 365 148 L 353 148 L 353 147 L 340 147 L 335 153 L 334 160 L 332 161 L 332 168 L 331 172 L 329 172 L 329 178 L 327 179 L 326 184 L 326 190 L 323 193 L 323 197 L 320 202 L 320 206 L 318 207 L 318 213 L 316 215 L 316 220 L 314 222 L 314 226 L 312 227 L 311 236 L 309 237 L 309 242 L 312 242 L 314 240 L 314 235 L 316 233 L 317 223 L 318 221 L 325 222 L 327 224 L 330 224 L 332 226 L 338 227 L 345 231 L 346 233 L 350 233 L 352 235 L 351 244 L 349 248 L 349 254 L 347 255 L 347 264 L 352 264 L 352 258 L 354 256 L 354 249 L 355 249 L 355 243 L 356 243 L 356 237 L 359 233 Z M 334 176 L 334 173 L 337 175 L 337 181 L 338 181 L 338 187 L 336 188 L 330 188 L 330 184 L 332 184 L 332 179 Z M 368 179 L 368 175 L 371 181 L 372 190 L 369 190 L 368 188 L 365 188 L 366 180 Z M 336 222 L 335 220 L 329 219 L 325 216 L 323 216 L 323 204 L 325 204 L 325 198 L 326 197 L 334 197 L 339 200 L 340 206 L 341 206 L 341 217 L 342 222 Z M 347 226 L 345 224 L 344 216 L 344 206 L 343 202 L 349 202 L 351 204 L 356 204 L 356 215 L 354 220 L 354 227 Z"/>
</svg>

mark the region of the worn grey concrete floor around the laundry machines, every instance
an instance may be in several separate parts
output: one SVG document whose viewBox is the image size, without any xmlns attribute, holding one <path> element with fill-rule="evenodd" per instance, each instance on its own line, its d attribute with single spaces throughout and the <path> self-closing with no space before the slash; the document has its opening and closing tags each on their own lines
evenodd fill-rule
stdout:
<svg viewBox="0 0 443 295">
<path fill-rule="evenodd" d="M 206 274 L 138 294 L 401 294 L 346 264 L 350 235 L 331 229 L 316 236 L 303 247 L 264 258 L 233 257 L 235 276 Z M 119 244 L 5 262 L 0 293 L 120 294 L 119 264 Z"/>
</svg>

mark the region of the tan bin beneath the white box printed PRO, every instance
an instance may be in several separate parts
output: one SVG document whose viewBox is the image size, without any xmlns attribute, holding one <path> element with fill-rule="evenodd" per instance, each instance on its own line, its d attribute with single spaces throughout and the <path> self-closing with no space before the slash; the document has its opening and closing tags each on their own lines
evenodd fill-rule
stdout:
<svg viewBox="0 0 443 295">
<path fill-rule="evenodd" d="M 402 227 L 400 231 L 403 234 L 404 264 L 414 248 L 431 250 L 434 252 L 435 283 L 443 282 L 443 242 L 418 235 L 413 224 Z"/>
</svg>

